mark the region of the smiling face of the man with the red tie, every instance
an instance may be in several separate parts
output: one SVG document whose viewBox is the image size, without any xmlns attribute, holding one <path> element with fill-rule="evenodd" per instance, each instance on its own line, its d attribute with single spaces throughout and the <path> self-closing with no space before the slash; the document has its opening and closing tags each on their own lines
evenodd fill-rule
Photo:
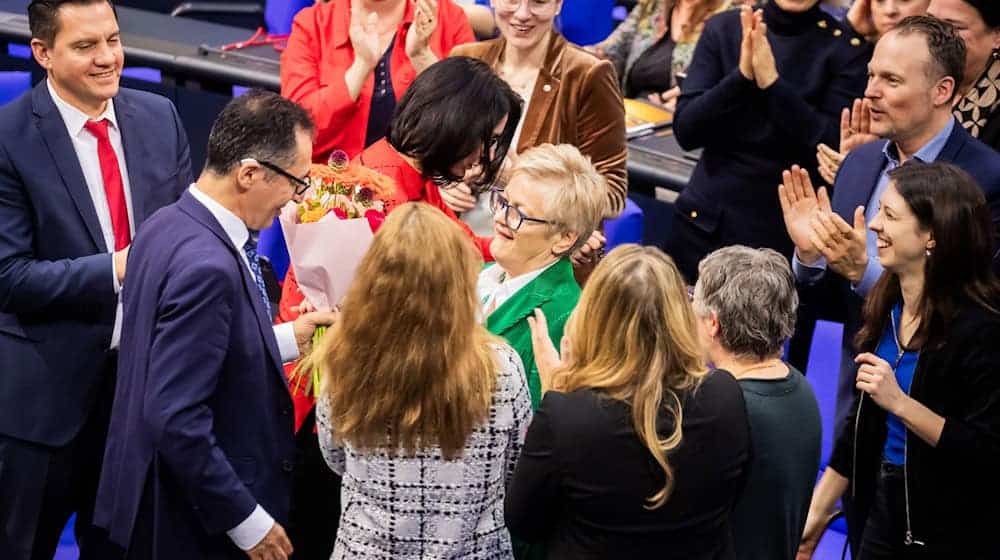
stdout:
<svg viewBox="0 0 1000 560">
<path fill-rule="evenodd" d="M 125 54 L 118 21 L 107 2 L 64 4 L 52 44 L 32 39 L 35 59 L 56 93 L 91 116 L 118 94 Z"/>
</svg>

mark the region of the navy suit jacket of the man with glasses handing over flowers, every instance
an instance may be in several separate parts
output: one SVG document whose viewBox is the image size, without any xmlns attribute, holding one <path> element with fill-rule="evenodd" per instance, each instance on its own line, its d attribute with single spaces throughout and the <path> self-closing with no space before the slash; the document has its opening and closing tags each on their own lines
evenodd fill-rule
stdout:
<svg viewBox="0 0 1000 560">
<path fill-rule="evenodd" d="M 190 192 L 129 254 L 118 385 L 94 523 L 144 560 L 245 558 L 225 531 L 288 520 L 292 400 L 260 293 Z"/>
</svg>

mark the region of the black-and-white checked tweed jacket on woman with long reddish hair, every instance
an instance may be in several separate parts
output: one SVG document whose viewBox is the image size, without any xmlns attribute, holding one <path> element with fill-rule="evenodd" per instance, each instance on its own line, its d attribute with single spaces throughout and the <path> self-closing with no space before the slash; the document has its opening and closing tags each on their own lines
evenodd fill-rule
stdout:
<svg viewBox="0 0 1000 560">
<path fill-rule="evenodd" d="M 329 401 L 319 400 L 320 449 L 344 478 L 331 558 L 513 558 L 503 500 L 531 421 L 531 399 L 521 358 L 506 344 L 493 348 L 500 367 L 489 418 L 452 461 L 440 448 L 389 457 L 338 444 Z"/>
</svg>

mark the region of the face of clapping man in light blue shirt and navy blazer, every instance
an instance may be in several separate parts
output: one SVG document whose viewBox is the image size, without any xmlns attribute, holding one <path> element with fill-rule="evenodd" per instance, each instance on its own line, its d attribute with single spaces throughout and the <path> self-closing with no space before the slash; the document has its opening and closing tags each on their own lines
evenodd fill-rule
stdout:
<svg viewBox="0 0 1000 560">
<path fill-rule="evenodd" d="M 875 45 L 865 97 L 872 133 L 897 143 L 926 135 L 936 110 L 948 110 L 951 78 L 934 81 L 927 41 L 919 33 L 890 32 Z"/>
</svg>

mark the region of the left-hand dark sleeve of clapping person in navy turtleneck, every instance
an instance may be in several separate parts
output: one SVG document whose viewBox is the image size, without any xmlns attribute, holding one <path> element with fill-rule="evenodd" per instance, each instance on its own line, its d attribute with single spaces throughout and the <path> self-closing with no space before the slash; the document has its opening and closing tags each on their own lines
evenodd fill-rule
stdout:
<svg viewBox="0 0 1000 560">
<path fill-rule="evenodd" d="M 752 130 L 746 127 L 746 108 L 759 91 L 738 67 L 726 67 L 722 56 L 725 39 L 721 35 L 725 30 L 718 25 L 724 16 L 715 16 L 705 24 L 677 100 L 673 128 L 677 142 L 685 150 Z"/>
</svg>

